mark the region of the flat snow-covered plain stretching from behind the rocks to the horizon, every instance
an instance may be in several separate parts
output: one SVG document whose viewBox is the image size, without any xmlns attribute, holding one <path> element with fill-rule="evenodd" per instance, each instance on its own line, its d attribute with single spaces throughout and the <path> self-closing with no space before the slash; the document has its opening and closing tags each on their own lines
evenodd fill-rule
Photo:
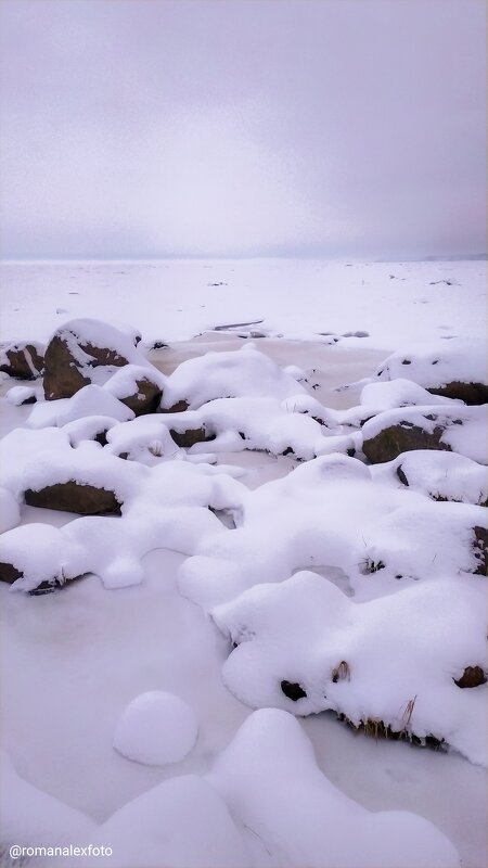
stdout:
<svg viewBox="0 0 488 868">
<path fill-rule="evenodd" d="M 483 335 L 487 317 L 484 261 L 4 263 L 0 284 L 2 341 L 44 341 L 77 317 L 134 323 L 146 341 L 259 320 L 247 330 L 298 340 L 368 332 L 362 344 L 393 350 Z"/>
</svg>

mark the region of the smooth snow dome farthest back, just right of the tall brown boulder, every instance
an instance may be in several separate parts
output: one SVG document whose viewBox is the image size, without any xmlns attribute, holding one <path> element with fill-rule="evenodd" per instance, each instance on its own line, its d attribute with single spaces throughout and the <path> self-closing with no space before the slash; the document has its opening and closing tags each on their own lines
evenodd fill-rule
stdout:
<svg viewBox="0 0 488 868">
<path fill-rule="evenodd" d="M 270 396 L 279 400 L 305 390 L 272 359 L 246 345 L 229 353 L 206 353 L 187 359 L 167 379 L 162 406 L 183 400 L 197 409 L 215 398 Z"/>
</svg>

